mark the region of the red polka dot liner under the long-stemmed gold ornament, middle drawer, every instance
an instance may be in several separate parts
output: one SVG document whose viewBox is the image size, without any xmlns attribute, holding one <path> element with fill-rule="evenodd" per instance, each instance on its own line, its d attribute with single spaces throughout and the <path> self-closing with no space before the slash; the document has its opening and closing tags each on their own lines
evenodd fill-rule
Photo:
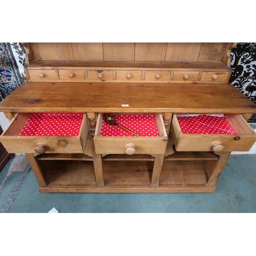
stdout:
<svg viewBox="0 0 256 256">
<path fill-rule="evenodd" d="M 136 136 L 117 125 L 105 123 L 107 115 L 103 115 L 100 136 Z M 116 123 L 145 137 L 159 136 L 154 114 L 147 115 L 113 115 Z"/>
</svg>

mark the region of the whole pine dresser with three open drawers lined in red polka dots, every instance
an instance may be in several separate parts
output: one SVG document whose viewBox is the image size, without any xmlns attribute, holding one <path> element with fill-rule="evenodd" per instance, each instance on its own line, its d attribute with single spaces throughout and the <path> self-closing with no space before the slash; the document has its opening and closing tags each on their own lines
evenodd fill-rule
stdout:
<svg viewBox="0 0 256 256">
<path fill-rule="evenodd" d="M 235 43 L 23 45 L 0 142 L 26 154 L 40 192 L 214 192 L 256 141 L 256 105 L 228 83 Z"/>
</svg>

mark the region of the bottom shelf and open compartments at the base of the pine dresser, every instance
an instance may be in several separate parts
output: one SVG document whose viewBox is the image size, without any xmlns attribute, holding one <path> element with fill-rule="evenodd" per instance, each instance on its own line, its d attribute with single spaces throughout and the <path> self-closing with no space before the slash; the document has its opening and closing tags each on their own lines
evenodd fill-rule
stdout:
<svg viewBox="0 0 256 256">
<path fill-rule="evenodd" d="M 104 187 L 97 187 L 92 161 L 40 161 L 47 186 L 40 192 L 214 192 L 201 160 L 164 161 L 158 187 L 151 186 L 153 161 L 103 161 Z"/>
</svg>

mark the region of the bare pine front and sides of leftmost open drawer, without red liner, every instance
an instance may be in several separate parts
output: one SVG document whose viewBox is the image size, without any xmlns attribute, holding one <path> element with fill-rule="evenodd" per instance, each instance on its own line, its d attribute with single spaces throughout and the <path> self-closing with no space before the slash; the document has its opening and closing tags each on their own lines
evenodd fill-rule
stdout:
<svg viewBox="0 0 256 256">
<path fill-rule="evenodd" d="M 8 153 L 84 152 L 88 134 L 86 114 L 83 116 L 78 136 L 19 136 L 29 117 L 30 113 L 17 113 L 0 136 L 0 142 Z"/>
</svg>

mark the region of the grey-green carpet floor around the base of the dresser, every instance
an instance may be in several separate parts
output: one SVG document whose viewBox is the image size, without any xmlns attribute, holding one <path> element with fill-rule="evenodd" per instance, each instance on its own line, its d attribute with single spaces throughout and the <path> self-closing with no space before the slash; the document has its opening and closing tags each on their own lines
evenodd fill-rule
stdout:
<svg viewBox="0 0 256 256">
<path fill-rule="evenodd" d="M 0 173 L 6 178 L 13 160 Z M 12 172 L 0 189 L 0 207 L 6 202 L 21 172 Z M 256 155 L 231 155 L 217 182 L 215 193 L 39 193 L 35 176 L 28 177 L 8 212 L 47 213 L 244 213 L 256 212 Z"/>
</svg>

